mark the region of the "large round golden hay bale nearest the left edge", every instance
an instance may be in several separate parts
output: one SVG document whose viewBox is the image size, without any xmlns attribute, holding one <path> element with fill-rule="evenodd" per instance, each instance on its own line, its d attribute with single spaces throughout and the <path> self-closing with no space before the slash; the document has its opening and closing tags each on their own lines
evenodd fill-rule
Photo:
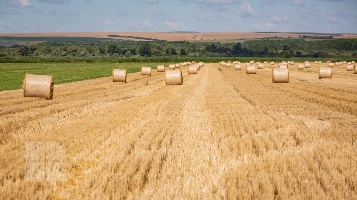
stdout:
<svg viewBox="0 0 357 200">
<path fill-rule="evenodd" d="M 23 82 L 24 97 L 42 97 L 51 100 L 53 95 L 53 76 L 26 74 Z"/>
</svg>

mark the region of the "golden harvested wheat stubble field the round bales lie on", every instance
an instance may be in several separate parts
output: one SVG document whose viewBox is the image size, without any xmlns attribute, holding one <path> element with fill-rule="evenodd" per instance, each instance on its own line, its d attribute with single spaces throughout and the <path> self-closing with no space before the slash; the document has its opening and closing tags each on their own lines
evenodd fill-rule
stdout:
<svg viewBox="0 0 357 200">
<path fill-rule="evenodd" d="M 278 63 L 205 63 L 183 85 L 152 70 L 52 100 L 2 91 L 0 199 L 357 199 L 357 74 L 297 64 L 289 83 L 272 83 Z M 26 181 L 30 141 L 63 147 L 63 180 Z"/>
</svg>

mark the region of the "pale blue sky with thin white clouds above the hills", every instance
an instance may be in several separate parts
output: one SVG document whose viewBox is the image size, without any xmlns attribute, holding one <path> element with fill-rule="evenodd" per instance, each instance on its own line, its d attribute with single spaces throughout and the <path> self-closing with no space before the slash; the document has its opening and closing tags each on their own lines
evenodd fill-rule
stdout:
<svg viewBox="0 0 357 200">
<path fill-rule="evenodd" d="M 0 33 L 357 33 L 357 0 L 0 0 Z"/>
</svg>

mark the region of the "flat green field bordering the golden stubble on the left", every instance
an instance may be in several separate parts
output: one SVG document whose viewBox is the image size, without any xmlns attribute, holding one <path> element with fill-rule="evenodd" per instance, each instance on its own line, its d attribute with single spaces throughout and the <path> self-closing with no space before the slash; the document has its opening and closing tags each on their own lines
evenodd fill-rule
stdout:
<svg viewBox="0 0 357 200">
<path fill-rule="evenodd" d="M 116 69 L 127 69 L 127 73 L 139 72 L 141 66 L 156 69 L 163 63 L 1 63 L 0 91 L 22 88 L 25 74 L 53 75 L 55 85 L 112 76 Z"/>
</svg>

